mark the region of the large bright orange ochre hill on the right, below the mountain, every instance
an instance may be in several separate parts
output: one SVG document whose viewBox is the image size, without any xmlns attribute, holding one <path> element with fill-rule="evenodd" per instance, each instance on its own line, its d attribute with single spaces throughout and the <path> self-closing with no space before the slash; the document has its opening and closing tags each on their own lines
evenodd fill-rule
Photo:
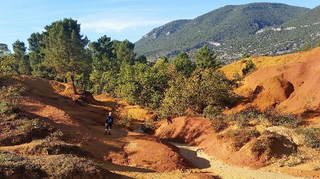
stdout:
<svg viewBox="0 0 320 179">
<path fill-rule="evenodd" d="M 249 58 L 257 70 L 243 80 L 237 94 L 250 97 L 235 109 L 256 105 L 260 109 L 276 106 L 282 112 L 301 113 L 320 104 L 320 48 L 277 57 Z M 241 72 L 245 61 L 221 68 L 228 78 Z M 293 88 L 293 89 L 292 89 Z"/>
</svg>

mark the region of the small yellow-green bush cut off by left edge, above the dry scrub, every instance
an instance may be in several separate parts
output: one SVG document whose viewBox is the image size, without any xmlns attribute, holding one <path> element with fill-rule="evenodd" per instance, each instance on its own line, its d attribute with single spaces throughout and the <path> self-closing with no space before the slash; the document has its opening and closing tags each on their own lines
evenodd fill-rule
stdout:
<svg viewBox="0 0 320 179">
<path fill-rule="evenodd" d="M 0 88 L 0 114 L 10 114 L 19 109 L 21 104 L 21 92 L 24 88 L 18 86 L 3 86 Z"/>
</svg>

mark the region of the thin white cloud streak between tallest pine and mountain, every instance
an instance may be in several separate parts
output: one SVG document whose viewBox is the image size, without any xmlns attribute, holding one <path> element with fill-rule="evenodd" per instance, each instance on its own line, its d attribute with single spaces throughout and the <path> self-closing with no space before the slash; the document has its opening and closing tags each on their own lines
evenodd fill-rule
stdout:
<svg viewBox="0 0 320 179">
<path fill-rule="evenodd" d="M 109 19 L 85 19 L 79 20 L 83 31 L 95 31 L 99 33 L 121 32 L 129 28 L 144 27 L 148 25 L 163 25 L 170 20 L 148 20 L 130 18 L 109 18 Z"/>
</svg>

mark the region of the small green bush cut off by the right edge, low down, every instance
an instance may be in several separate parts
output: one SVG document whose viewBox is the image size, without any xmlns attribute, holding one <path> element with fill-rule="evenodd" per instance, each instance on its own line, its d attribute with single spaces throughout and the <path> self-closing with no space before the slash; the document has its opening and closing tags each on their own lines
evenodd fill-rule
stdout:
<svg viewBox="0 0 320 179">
<path fill-rule="evenodd" d="M 307 147 L 313 149 L 320 149 L 320 129 L 319 128 L 307 128 L 302 130 L 302 134 L 305 136 L 305 144 Z"/>
</svg>

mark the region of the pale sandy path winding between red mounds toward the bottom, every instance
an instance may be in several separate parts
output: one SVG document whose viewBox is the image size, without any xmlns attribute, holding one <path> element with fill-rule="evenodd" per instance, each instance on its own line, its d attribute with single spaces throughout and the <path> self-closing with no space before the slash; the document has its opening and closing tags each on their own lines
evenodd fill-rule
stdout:
<svg viewBox="0 0 320 179">
<path fill-rule="evenodd" d="M 192 162 L 202 172 L 215 173 L 223 179 L 303 179 L 287 176 L 280 173 L 271 173 L 261 170 L 250 170 L 232 167 L 212 158 L 197 147 L 171 143 L 180 149 L 180 154 Z"/>
</svg>

